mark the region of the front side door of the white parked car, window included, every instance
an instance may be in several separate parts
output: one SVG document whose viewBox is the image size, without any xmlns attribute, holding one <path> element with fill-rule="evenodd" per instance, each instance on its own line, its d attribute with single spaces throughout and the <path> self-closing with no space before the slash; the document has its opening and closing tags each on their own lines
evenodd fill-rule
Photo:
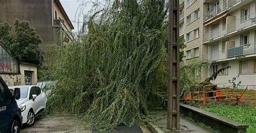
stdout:
<svg viewBox="0 0 256 133">
<path fill-rule="evenodd" d="M 39 107 L 40 107 L 41 102 L 38 98 L 38 95 L 37 95 L 36 99 L 33 101 L 33 98 L 32 98 L 33 94 L 37 95 L 35 86 L 32 86 L 30 88 L 29 100 L 30 100 L 30 102 L 32 102 L 32 108 L 33 108 L 34 113 L 37 114 L 37 112 L 39 111 Z"/>
</svg>

